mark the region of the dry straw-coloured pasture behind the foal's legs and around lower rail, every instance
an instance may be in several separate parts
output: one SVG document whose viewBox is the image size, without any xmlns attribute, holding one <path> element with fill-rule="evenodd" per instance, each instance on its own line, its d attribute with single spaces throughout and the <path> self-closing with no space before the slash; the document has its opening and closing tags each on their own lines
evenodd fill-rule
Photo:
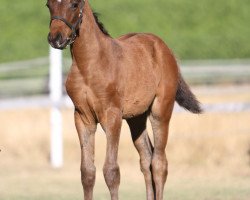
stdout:
<svg viewBox="0 0 250 200">
<path fill-rule="evenodd" d="M 244 89 L 242 89 L 244 88 Z M 203 103 L 249 102 L 250 86 L 195 88 Z M 49 165 L 49 109 L 0 111 L 0 199 L 82 199 L 80 148 L 73 110 L 63 110 L 64 167 Z M 250 198 L 250 113 L 217 112 L 200 116 L 174 113 L 167 147 L 168 200 L 248 200 Z M 150 130 L 150 128 L 149 128 Z M 102 175 L 105 135 L 96 133 L 97 181 L 95 199 L 109 199 Z M 139 169 L 126 123 L 119 147 L 120 199 L 145 199 Z"/>
</svg>

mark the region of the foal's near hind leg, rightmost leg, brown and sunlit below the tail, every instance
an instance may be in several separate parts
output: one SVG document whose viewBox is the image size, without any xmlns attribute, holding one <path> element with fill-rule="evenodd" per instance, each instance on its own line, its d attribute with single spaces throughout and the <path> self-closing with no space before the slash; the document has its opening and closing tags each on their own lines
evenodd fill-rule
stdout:
<svg viewBox="0 0 250 200">
<path fill-rule="evenodd" d="M 171 98 L 171 93 L 169 95 L 168 97 L 156 97 L 150 114 L 154 133 L 152 171 L 156 189 L 156 200 L 163 199 L 164 185 L 168 174 L 165 148 L 168 139 L 169 121 L 174 105 L 174 98 Z"/>
</svg>

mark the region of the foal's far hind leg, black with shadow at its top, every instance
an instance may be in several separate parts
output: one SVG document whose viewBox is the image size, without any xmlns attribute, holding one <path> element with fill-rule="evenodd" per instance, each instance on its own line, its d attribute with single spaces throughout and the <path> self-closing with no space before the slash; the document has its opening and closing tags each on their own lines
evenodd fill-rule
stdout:
<svg viewBox="0 0 250 200">
<path fill-rule="evenodd" d="M 141 171 L 145 178 L 147 200 L 154 200 L 154 182 L 151 172 L 153 146 L 146 130 L 147 114 L 127 120 L 134 145 L 140 155 Z"/>
</svg>

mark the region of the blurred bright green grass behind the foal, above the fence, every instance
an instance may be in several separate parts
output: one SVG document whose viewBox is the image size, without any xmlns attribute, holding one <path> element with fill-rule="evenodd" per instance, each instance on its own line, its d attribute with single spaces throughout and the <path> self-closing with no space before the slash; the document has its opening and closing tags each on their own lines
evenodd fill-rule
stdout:
<svg viewBox="0 0 250 200">
<path fill-rule="evenodd" d="M 113 36 L 152 32 L 181 59 L 249 58 L 248 0 L 90 0 Z M 2 0 L 0 63 L 48 54 L 46 1 Z"/>
</svg>

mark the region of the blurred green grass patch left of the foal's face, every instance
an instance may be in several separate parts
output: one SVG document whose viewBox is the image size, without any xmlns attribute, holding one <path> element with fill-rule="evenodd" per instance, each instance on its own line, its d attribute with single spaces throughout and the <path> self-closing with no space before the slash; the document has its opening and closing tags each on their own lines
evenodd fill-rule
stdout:
<svg viewBox="0 0 250 200">
<path fill-rule="evenodd" d="M 1 1 L 0 62 L 26 60 L 48 53 L 48 13 L 44 2 Z"/>
</svg>

